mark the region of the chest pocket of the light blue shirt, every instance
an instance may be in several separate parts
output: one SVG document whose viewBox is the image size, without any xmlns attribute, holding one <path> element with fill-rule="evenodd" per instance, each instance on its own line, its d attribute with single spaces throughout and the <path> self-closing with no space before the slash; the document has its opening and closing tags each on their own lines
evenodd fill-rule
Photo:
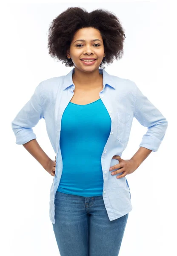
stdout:
<svg viewBox="0 0 177 256">
<path fill-rule="evenodd" d="M 130 114 L 117 113 L 117 140 L 126 143 L 130 135 Z"/>
</svg>

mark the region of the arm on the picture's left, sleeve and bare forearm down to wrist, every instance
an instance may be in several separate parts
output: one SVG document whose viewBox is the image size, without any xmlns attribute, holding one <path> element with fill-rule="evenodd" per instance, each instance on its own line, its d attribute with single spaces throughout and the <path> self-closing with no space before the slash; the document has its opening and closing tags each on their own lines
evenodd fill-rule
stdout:
<svg viewBox="0 0 177 256">
<path fill-rule="evenodd" d="M 44 118 L 42 82 L 35 88 L 31 99 L 24 105 L 11 122 L 12 130 L 16 137 L 16 144 L 23 145 L 27 151 L 43 166 L 51 160 L 37 143 L 36 134 L 32 127 Z"/>
</svg>

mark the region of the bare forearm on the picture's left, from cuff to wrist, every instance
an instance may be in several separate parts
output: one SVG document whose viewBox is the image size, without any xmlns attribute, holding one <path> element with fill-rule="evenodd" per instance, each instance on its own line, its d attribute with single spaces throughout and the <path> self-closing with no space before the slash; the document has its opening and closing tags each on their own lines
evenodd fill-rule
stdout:
<svg viewBox="0 0 177 256">
<path fill-rule="evenodd" d="M 24 148 L 46 169 L 46 165 L 51 161 L 50 157 L 43 151 L 37 140 L 30 140 L 29 142 L 23 144 Z"/>
</svg>

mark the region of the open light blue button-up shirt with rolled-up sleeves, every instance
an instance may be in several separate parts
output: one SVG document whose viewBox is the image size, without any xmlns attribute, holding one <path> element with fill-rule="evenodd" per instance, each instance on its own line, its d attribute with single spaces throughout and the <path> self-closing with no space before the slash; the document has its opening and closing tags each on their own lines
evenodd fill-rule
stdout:
<svg viewBox="0 0 177 256">
<path fill-rule="evenodd" d="M 12 130 L 16 136 L 16 144 L 22 145 L 37 138 L 32 127 L 37 125 L 41 118 L 45 119 L 49 140 L 57 156 L 49 202 L 49 215 L 53 224 L 55 223 L 55 194 L 63 172 L 60 148 L 61 122 L 64 111 L 69 107 L 69 102 L 74 95 L 73 72 L 74 68 L 65 76 L 41 81 L 31 99 L 11 123 Z M 108 218 L 113 221 L 126 215 L 132 209 L 130 189 L 126 177 L 117 179 L 117 175 L 111 175 L 109 168 L 119 163 L 118 160 L 112 159 L 112 157 L 114 155 L 122 156 L 128 143 L 133 118 L 135 117 L 141 125 L 147 127 L 146 134 L 143 135 L 139 146 L 152 151 L 158 150 L 165 136 L 168 122 L 133 81 L 109 75 L 106 70 L 101 68 L 99 73 L 103 74 L 103 89 L 99 93 L 100 99 L 107 110 L 107 114 L 110 116 L 111 129 L 103 146 L 101 159 L 98 160 L 101 161 L 103 174 L 103 200 Z M 97 104 L 95 104 L 96 106 Z M 93 108 L 94 105 L 92 106 L 92 111 Z M 95 115 L 97 115 L 97 108 L 94 111 Z M 100 132 L 103 133 L 104 131 L 101 130 Z M 88 150 L 87 146 L 86 144 L 86 150 Z M 72 151 L 69 151 L 67 155 L 70 164 L 71 154 Z M 82 159 L 80 159 L 80 163 L 82 163 Z M 72 175 L 72 169 L 70 171 Z"/>
</svg>

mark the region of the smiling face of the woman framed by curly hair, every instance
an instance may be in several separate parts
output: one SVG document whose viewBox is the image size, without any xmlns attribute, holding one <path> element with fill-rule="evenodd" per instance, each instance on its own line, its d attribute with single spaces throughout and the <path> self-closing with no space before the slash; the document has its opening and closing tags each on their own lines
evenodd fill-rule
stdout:
<svg viewBox="0 0 177 256">
<path fill-rule="evenodd" d="M 67 51 L 67 57 L 72 59 L 74 66 L 79 70 L 92 72 L 98 69 L 105 57 L 100 31 L 91 27 L 77 30 Z M 85 63 L 81 61 L 82 58 L 94 58 L 96 61 Z"/>
</svg>

